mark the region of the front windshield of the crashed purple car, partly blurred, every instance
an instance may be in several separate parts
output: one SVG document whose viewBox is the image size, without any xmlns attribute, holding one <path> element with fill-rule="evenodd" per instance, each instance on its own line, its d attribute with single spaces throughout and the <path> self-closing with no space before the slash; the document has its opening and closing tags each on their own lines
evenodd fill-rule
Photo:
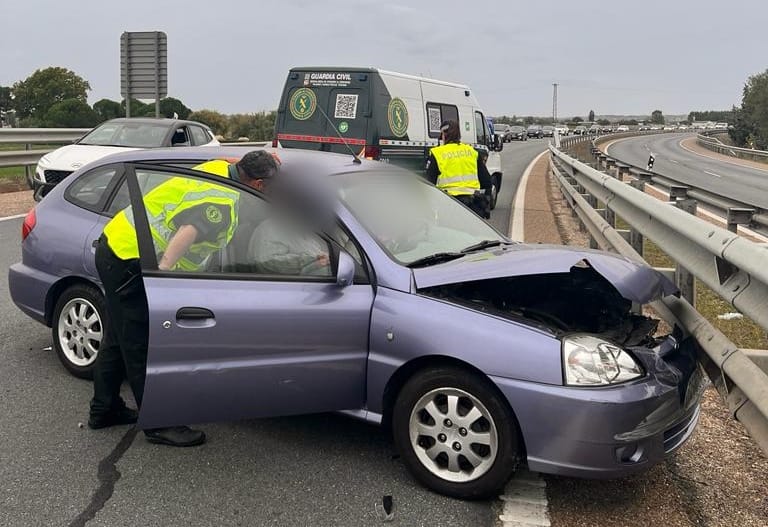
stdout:
<svg viewBox="0 0 768 527">
<path fill-rule="evenodd" d="M 339 197 L 379 246 L 403 265 L 441 253 L 460 253 L 485 241 L 507 241 L 460 202 L 415 174 L 350 175 L 343 179 Z"/>
</svg>

